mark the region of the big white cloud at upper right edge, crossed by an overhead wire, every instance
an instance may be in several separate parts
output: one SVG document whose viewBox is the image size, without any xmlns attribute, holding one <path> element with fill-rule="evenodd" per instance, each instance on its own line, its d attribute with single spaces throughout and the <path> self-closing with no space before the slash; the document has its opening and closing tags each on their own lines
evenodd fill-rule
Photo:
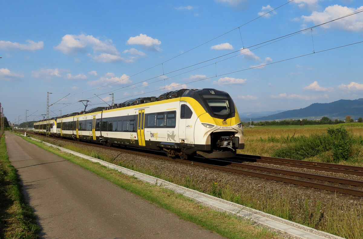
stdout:
<svg viewBox="0 0 363 239">
<path fill-rule="evenodd" d="M 362 8 L 363 6 L 358 8 L 348 8 L 336 4 L 325 8 L 323 12 L 314 11 L 313 13 L 311 13 L 310 16 L 302 16 L 302 19 L 305 22 L 311 21 L 315 25 L 318 25 L 348 15 Z M 363 15 L 355 14 L 349 17 L 344 17 L 343 19 L 339 19 L 332 23 L 324 24 L 321 27 L 325 29 L 335 28 L 342 31 L 350 32 L 363 32 Z"/>
</svg>

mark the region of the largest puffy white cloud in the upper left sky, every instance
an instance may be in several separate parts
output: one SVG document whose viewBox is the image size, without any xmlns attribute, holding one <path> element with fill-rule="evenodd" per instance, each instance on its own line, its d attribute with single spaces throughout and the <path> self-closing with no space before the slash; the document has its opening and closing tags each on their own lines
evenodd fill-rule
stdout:
<svg viewBox="0 0 363 239">
<path fill-rule="evenodd" d="M 60 50 L 66 55 L 74 55 L 78 53 L 86 53 L 87 48 L 93 49 L 93 52 L 119 54 L 112 40 L 101 41 L 91 35 L 65 35 L 58 46 L 53 47 L 55 50 Z"/>
</svg>

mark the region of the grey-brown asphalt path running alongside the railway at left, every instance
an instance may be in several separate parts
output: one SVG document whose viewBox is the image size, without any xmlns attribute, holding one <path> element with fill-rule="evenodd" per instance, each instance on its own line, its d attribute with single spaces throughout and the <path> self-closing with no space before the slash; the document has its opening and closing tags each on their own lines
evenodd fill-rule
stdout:
<svg viewBox="0 0 363 239">
<path fill-rule="evenodd" d="M 5 132 L 41 238 L 223 238 Z"/>
</svg>

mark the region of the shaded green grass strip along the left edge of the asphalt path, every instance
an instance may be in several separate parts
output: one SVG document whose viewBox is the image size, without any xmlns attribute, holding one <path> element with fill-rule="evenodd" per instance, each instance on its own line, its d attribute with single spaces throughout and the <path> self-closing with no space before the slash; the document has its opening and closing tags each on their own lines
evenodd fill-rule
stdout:
<svg viewBox="0 0 363 239">
<path fill-rule="evenodd" d="M 0 238 L 38 238 L 40 227 L 32 208 L 21 194 L 16 172 L 6 153 L 5 137 L 1 137 Z"/>
</svg>

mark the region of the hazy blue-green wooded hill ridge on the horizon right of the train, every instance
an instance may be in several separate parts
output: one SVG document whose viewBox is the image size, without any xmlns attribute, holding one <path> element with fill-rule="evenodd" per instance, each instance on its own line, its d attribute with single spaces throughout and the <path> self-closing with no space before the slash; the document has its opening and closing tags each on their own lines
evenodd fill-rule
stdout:
<svg viewBox="0 0 363 239">
<path fill-rule="evenodd" d="M 243 114 L 241 114 L 243 115 Z M 314 103 L 306 108 L 297 110 L 287 110 L 284 112 L 271 114 L 264 117 L 248 118 L 253 121 L 273 121 L 284 119 L 321 119 L 323 116 L 331 120 L 340 119 L 344 120 L 346 116 L 351 116 L 352 119 L 357 120 L 359 117 L 363 118 L 363 98 L 357 100 L 338 100 L 331 103 Z M 241 117 L 242 118 L 242 117 Z M 242 120 L 246 121 L 246 120 Z"/>
</svg>

